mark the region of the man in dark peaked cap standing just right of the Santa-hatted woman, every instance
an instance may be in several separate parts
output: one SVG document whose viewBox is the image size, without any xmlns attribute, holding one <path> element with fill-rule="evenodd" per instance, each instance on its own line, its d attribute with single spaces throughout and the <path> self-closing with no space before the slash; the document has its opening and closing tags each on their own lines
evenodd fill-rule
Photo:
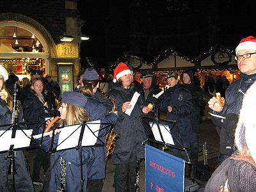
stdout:
<svg viewBox="0 0 256 192">
<path fill-rule="evenodd" d="M 151 69 L 143 70 L 141 74 L 141 79 L 142 79 L 142 83 L 135 86 L 135 88 L 142 96 L 143 106 L 147 106 L 150 103 L 156 104 L 157 98 L 154 97 L 153 95 L 157 95 L 157 93 L 161 92 L 161 89 L 156 83 L 153 82 L 153 70 Z M 149 118 L 154 119 L 155 115 L 158 115 L 158 108 L 156 105 L 154 106 L 154 111 L 150 111 L 150 113 L 148 113 L 147 116 Z M 149 122 L 154 122 L 154 120 L 150 120 L 148 118 L 142 118 L 142 121 L 143 121 L 144 128 L 148 132 L 149 138 L 154 140 L 155 138 L 149 125 Z M 154 142 L 151 142 L 150 145 L 158 148 L 158 145 Z"/>
</svg>

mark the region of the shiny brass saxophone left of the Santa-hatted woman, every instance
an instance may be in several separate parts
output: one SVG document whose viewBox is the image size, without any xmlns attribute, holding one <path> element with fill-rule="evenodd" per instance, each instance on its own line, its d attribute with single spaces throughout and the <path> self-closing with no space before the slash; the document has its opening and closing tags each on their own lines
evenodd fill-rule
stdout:
<svg viewBox="0 0 256 192">
<path fill-rule="evenodd" d="M 117 111 L 116 108 L 116 102 L 114 99 L 110 98 L 107 93 L 101 92 L 102 97 L 109 99 L 112 103 L 112 109 L 111 112 Z M 116 139 L 118 138 L 118 135 L 113 131 L 113 128 L 111 131 L 106 135 L 105 141 L 106 141 L 106 161 L 108 161 L 111 154 L 113 154 L 115 148 L 116 148 Z"/>
</svg>

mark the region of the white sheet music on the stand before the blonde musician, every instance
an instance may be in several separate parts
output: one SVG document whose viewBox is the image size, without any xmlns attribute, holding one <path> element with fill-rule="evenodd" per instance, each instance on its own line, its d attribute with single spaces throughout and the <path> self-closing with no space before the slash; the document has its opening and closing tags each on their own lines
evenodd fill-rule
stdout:
<svg viewBox="0 0 256 192">
<path fill-rule="evenodd" d="M 100 129 L 100 120 L 97 120 L 97 121 L 94 121 L 91 123 L 99 123 L 99 124 L 90 124 L 90 122 L 88 122 L 88 127 L 90 127 L 90 129 L 92 129 L 93 132 Z M 78 144 L 81 127 L 82 127 L 81 125 L 72 125 L 72 126 L 68 126 L 68 127 L 65 127 L 64 129 L 62 129 L 62 131 L 60 132 L 60 136 L 59 136 L 59 140 L 58 140 L 58 147 L 56 148 L 56 150 L 62 150 L 65 148 L 76 147 Z M 85 128 L 84 128 L 82 146 L 95 145 L 95 143 L 97 142 L 97 137 L 95 137 L 93 135 L 93 133 L 90 131 L 90 129 L 88 129 L 88 127 L 85 126 Z M 74 132 L 74 133 L 72 134 L 72 132 Z M 72 134 L 72 135 L 70 135 L 70 134 Z M 98 136 L 98 134 L 99 134 L 99 131 L 95 132 L 96 136 Z M 67 138 L 67 140 L 66 140 L 66 138 Z"/>
</svg>

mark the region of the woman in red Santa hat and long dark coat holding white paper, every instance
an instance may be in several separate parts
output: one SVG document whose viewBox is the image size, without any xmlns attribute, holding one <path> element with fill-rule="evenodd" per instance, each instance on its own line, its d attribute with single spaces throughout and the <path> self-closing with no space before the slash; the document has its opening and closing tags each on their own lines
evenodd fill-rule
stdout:
<svg viewBox="0 0 256 192">
<path fill-rule="evenodd" d="M 114 84 L 108 94 L 115 99 L 118 109 L 118 122 L 114 128 L 118 138 L 115 152 L 112 154 L 113 163 L 116 164 L 115 191 L 135 191 L 136 161 L 145 158 L 145 147 L 142 142 L 147 138 L 140 115 L 148 113 L 150 109 L 141 108 L 140 96 L 131 115 L 125 113 L 131 108 L 130 101 L 136 92 L 131 86 L 131 70 L 125 63 L 116 66 L 113 81 Z"/>
</svg>

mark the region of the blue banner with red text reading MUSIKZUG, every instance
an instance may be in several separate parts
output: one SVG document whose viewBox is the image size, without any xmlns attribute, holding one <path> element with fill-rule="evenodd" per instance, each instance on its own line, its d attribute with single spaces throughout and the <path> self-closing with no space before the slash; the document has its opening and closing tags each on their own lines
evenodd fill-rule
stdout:
<svg viewBox="0 0 256 192">
<path fill-rule="evenodd" d="M 184 191 L 185 161 L 146 145 L 146 191 Z"/>
</svg>

